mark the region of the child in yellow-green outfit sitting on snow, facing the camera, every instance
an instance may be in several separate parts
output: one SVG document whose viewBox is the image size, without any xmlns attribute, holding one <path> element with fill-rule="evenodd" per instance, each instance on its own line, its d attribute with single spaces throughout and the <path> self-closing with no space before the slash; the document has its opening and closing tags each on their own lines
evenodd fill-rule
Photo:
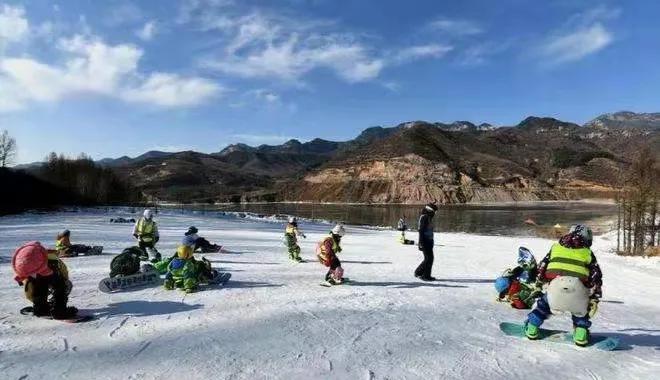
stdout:
<svg viewBox="0 0 660 380">
<path fill-rule="evenodd" d="M 211 269 L 208 260 L 195 260 L 193 247 L 182 244 L 177 248 L 176 255 L 169 259 L 164 286 L 167 290 L 181 288 L 186 293 L 192 293 L 199 289 L 200 283 L 209 282 L 216 275 L 217 271 Z"/>
</svg>

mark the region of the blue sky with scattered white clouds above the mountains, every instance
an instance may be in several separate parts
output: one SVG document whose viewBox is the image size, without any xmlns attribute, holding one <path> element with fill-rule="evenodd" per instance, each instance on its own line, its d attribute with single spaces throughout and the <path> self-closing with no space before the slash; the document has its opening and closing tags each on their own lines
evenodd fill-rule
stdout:
<svg viewBox="0 0 660 380">
<path fill-rule="evenodd" d="M 18 162 L 660 111 L 658 1 L 0 0 Z"/>
</svg>

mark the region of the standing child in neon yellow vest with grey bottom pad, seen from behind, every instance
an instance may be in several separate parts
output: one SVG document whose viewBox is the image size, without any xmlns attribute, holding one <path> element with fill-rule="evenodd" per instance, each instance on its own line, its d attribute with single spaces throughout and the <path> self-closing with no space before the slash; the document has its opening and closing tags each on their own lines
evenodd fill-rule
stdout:
<svg viewBox="0 0 660 380">
<path fill-rule="evenodd" d="M 549 281 L 550 285 L 527 316 L 527 338 L 539 338 L 539 327 L 552 314 L 551 310 L 567 311 L 571 312 L 573 319 L 573 342 L 578 346 L 589 343 L 591 318 L 598 311 L 603 285 L 600 266 L 590 249 L 592 240 L 591 229 L 574 225 L 568 234 L 552 245 L 539 264 L 537 283 Z"/>
</svg>

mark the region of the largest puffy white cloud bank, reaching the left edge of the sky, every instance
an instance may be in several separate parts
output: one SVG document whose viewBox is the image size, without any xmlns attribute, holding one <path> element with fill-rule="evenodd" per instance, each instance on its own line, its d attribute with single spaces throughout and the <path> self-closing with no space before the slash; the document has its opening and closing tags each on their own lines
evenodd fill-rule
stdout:
<svg viewBox="0 0 660 380">
<path fill-rule="evenodd" d="M 57 102 L 77 94 L 99 94 L 162 107 L 200 104 L 222 92 L 205 78 L 138 71 L 143 51 L 135 45 L 108 45 L 100 38 L 76 35 L 60 39 L 65 57 L 60 65 L 31 58 L 0 59 L 0 91 L 12 101 L 0 111 L 24 108 L 30 102 Z"/>
</svg>

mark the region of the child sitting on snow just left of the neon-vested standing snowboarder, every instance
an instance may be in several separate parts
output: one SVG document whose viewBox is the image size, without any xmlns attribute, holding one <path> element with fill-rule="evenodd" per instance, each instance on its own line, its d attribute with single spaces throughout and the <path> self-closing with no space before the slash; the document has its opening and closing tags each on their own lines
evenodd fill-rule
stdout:
<svg viewBox="0 0 660 380">
<path fill-rule="evenodd" d="M 495 280 L 500 302 L 509 302 L 516 309 L 530 309 L 539 291 L 536 289 L 536 259 L 532 252 L 518 248 L 518 266 L 507 269 Z"/>
</svg>

